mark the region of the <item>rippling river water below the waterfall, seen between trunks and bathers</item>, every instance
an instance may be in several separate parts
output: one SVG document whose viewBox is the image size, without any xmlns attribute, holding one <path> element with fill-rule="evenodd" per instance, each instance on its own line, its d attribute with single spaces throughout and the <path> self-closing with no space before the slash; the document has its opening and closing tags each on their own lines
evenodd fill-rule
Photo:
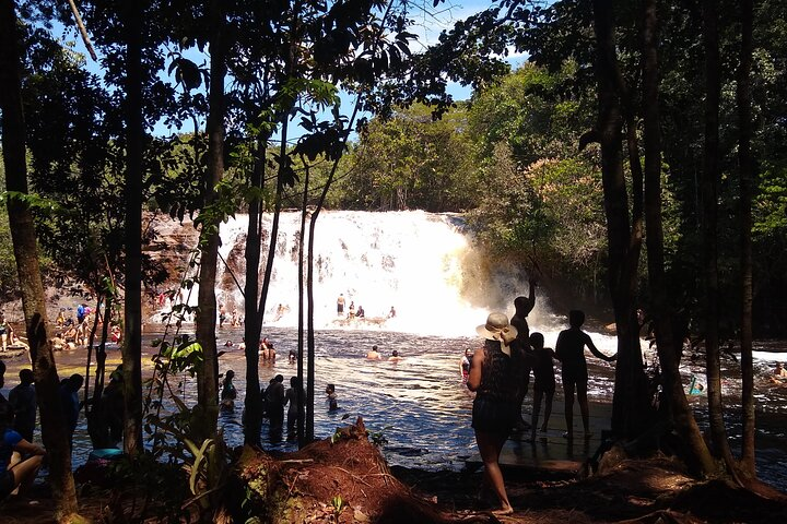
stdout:
<svg viewBox="0 0 787 524">
<path fill-rule="evenodd" d="M 265 333 L 277 347 L 275 365 L 260 366 L 261 384 L 278 373 L 285 378 L 296 373 L 295 365 L 287 362 L 286 355 L 297 349 L 296 332 L 291 329 L 269 329 Z M 547 345 L 554 345 L 556 333 L 545 333 Z M 235 371 L 235 385 L 238 390 L 234 413 L 223 413 L 220 425 L 224 428 L 230 445 L 243 442 L 240 416 L 246 393 L 246 366 L 243 352 L 237 343 L 243 332 L 240 327 L 224 329 L 219 341 L 234 341 L 232 347 L 221 347 L 226 353 L 220 358 L 220 372 Z M 594 338 L 597 335 L 594 334 Z M 145 335 L 145 341 L 154 335 Z M 388 443 L 383 446 L 386 460 L 392 465 L 421 467 L 424 469 L 459 469 L 463 458 L 477 453 L 470 412 L 472 400 L 460 382 L 459 358 L 466 347 L 478 346 L 475 338 L 442 338 L 419 336 L 407 333 L 384 331 L 321 331 L 316 333 L 316 383 L 315 383 L 315 433 L 326 438 L 338 426 L 361 416 L 369 431 L 381 431 Z M 379 346 L 384 357 L 396 349 L 403 360 L 399 362 L 371 361 L 365 359 L 373 344 Z M 603 348 L 611 353 L 609 348 Z M 146 348 L 143 358 L 150 358 L 153 348 Z M 61 354 L 66 358 L 66 354 Z M 771 384 L 766 377 L 773 362 L 786 354 L 762 352 L 755 355 L 755 395 L 757 410 L 757 469 L 761 478 L 782 489 L 787 489 L 787 454 L 785 445 L 785 420 L 787 419 L 787 386 Z M 110 354 L 110 357 L 114 356 Z M 119 355 L 117 355 L 119 357 Z M 61 357 L 59 357 L 60 359 Z M 75 358 L 69 357 L 69 358 Z M 82 359 L 83 354 L 79 355 Z M 60 362 L 59 362 L 60 364 Z M 591 401 L 611 402 L 614 369 L 594 357 L 588 357 L 590 382 L 588 395 Z M 730 440 L 736 449 L 740 444 L 740 382 L 738 364 L 725 360 L 724 376 L 730 377 L 724 383 L 725 406 Z M 681 369 L 684 381 L 689 383 L 691 373 L 703 374 L 700 362 L 686 365 Z M 560 384 L 560 372 L 557 381 Z M 187 402 L 196 401 L 193 379 L 186 381 Z M 329 413 L 325 398 L 328 383 L 336 384 L 339 395 L 338 412 Z M 15 384 L 14 373 L 7 374 L 7 389 Z M 559 385 L 555 403 L 560 398 Z M 526 400 L 529 412 L 530 395 Z M 690 396 L 695 406 L 697 421 L 706 425 L 706 401 L 704 395 Z M 526 416 L 526 419 L 529 418 Z M 81 464 L 90 453 L 90 442 L 82 425 L 74 439 L 74 462 Z M 262 441 L 267 449 L 290 450 L 292 443 L 268 443 L 267 425 L 263 427 Z"/>
</svg>

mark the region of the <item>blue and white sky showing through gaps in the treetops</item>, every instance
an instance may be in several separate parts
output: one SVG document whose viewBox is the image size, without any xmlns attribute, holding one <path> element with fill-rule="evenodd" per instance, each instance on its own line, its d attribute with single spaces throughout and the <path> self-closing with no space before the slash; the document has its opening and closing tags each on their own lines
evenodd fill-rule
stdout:
<svg viewBox="0 0 787 524">
<path fill-rule="evenodd" d="M 431 8 L 432 2 L 430 0 L 425 0 L 425 2 Z M 418 40 L 412 45 L 413 52 L 420 52 L 424 50 L 430 44 L 436 43 L 439 33 L 444 29 L 451 28 L 457 21 L 465 20 L 471 14 L 478 13 L 489 8 L 492 2 L 482 0 L 446 0 L 431 12 L 427 12 L 425 9 L 419 10 L 413 5 L 413 10 L 410 12 L 410 16 L 412 20 L 415 21 L 415 25 L 410 31 L 418 35 Z M 87 27 L 87 31 L 90 33 L 90 27 Z M 56 34 L 60 32 L 56 29 Z M 77 31 L 75 23 L 72 27 L 62 28 L 62 34 L 63 39 L 73 40 L 75 43 L 75 51 L 81 52 L 85 56 L 87 70 L 102 78 L 103 71 L 101 67 L 99 49 L 96 49 L 96 52 L 98 53 L 98 61 L 93 61 L 90 58 L 86 47 Z M 195 51 L 195 53 L 192 53 L 191 56 L 189 56 L 188 52 L 185 52 L 185 55 L 198 64 L 200 64 L 203 60 L 208 62 L 208 60 L 204 57 L 201 57 L 198 51 Z M 517 67 L 525 61 L 525 57 L 522 55 L 512 53 L 506 58 L 506 60 L 512 63 L 512 66 Z M 161 75 L 163 80 L 172 81 L 172 78 L 166 74 L 166 72 L 162 72 Z M 204 84 L 202 87 L 204 88 Z M 462 86 L 456 82 L 449 83 L 448 92 L 453 95 L 455 100 L 466 100 L 470 98 L 472 94 L 469 86 Z M 340 94 L 340 98 L 342 112 L 349 115 L 354 105 L 353 97 L 342 92 Z M 187 127 L 181 129 L 180 131 L 193 131 L 193 129 L 189 128 L 189 123 L 185 123 L 185 126 Z M 204 127 L 204 121 L 202 121 L 200 126 Z M 178 130 L 175 128 L 168 128 L 162 121 L 154 127 L 153 134 L 164 136 L 177 131 Z"/>
</svg>

